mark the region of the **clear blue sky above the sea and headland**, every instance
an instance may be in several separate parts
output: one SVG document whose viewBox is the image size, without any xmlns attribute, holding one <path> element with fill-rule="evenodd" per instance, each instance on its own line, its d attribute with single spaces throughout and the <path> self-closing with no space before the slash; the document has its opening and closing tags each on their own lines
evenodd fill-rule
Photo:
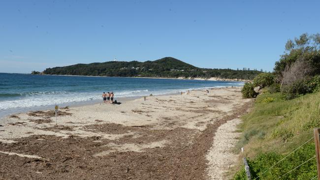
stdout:
<svg viewBox="0 0 320 180">
<path fill-rule="evenodd" d="M 320 0 L 0 0 L 0 72 L 174 57 L 272 71 Z"/>
</svg>

